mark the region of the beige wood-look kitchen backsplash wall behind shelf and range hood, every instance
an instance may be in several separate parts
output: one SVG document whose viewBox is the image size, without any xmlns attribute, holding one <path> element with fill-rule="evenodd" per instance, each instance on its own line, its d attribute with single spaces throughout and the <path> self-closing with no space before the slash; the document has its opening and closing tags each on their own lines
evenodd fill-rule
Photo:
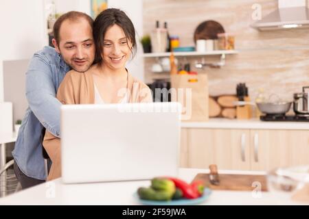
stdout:
<svg viewBox="0 0 309 219">
<path fill-rule="evenodd" d="M 209 94 L 233 94 L 237 83 L 249 87 L 252 99 L 259 88 L 266 94 L 276 93 L 282 99 L 293 99 L 293 93 L 309 86 L 309 31 L 289 29 L 257 31 L 253 23 L 252 5 L 262 6 L 262 16 L 277 8 L 277 0 L 144 0 L 144 34 L 168 22 L 170 35 L 177 35 L 181 47 L 194 46 L 193 34 L 198 24 L 207 20 L 218 21 L 226 32 L 236 36 L 236 55 L 227 55 L 222 68 L 194 68 L 201 57 L 177 57 L 182 63 L 190 62 L 192 70 L 207 73 Z M 205 62 L 218 62 L 220 56 L 206 56 Z M 185 60 L 186 59 L 186 60 Z M 167 78 L 168 73 L 152 73 L 155 58 L 145 59 L 145 79 L 150 83 L 155 78 Z"/>
</svg>

